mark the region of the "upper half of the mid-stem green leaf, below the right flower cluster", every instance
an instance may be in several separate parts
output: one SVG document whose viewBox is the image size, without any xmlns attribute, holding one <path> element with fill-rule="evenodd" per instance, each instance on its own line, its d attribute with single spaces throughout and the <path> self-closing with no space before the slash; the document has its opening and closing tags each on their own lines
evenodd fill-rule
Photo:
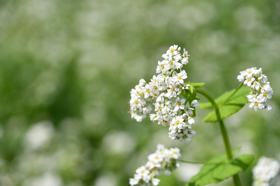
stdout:
<svg viewBox="0 0 280 186">
<path fill-rule="evenodd" d="M 220 95 L 218 98 L 215 99 L 215 102 L 220 105 L 232 94 L 234 93 L 235 89 L 231 91 L 227 91 Z M 246 104 L 248 102 L 247 95 L 250 93 L 250 87 L 244 86 L 241 87 L 225 104 Z M 211 109 L 213 108 L 210 102 L 202 102 L 199 103 L 198 107 L 203 109 Z"/>
</svg>

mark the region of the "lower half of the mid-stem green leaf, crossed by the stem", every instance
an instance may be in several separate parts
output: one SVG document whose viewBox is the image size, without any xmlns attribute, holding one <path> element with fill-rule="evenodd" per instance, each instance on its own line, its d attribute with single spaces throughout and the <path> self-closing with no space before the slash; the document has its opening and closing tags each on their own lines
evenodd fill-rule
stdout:
<svg viewBox="0 0 280 186">
<path fill-rule="evenodd" d="M 245 104 L 226 104 L 220 108 L 221 118 L 225 119 L 232 114 L 237 113 L 240 109 L 244 107 Z M 204 119 L 204 122 L 217 122 L 217 116 L 215 111 L 211 111 Z"/>
</svg>

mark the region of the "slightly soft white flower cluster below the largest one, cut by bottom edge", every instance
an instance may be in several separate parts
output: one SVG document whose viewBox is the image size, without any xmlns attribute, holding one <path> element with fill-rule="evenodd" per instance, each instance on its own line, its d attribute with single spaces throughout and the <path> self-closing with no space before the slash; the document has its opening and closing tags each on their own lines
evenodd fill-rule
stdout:
<svg viewBox="0 0 280 186">
<path fill-rule="evenodd" d="M 156 176 L 160 176 L 163 171 L 169 176 L 171 171 L 180 166 L 180 157 L 180 149 L 168 149 L 164 145 L 158 144 L 155 153 L 148 155 L 146 165 L 136 169 L 134 178 L 129 178 L 129 184 L 141 186 L 158 185 L 160 180 Z"/>
</svg>

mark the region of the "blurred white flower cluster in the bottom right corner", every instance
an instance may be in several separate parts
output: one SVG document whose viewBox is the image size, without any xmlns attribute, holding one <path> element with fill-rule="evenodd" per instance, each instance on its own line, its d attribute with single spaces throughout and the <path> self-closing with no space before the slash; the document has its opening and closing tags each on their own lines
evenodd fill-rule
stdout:
<svg viewBox="0 0 280 186">
<path fill-rule="evenodd" d="M 260 157 L 253 169 L 253 186 L 269 186 L 269 180 L 279 172 L 280 164 L 273 158 Z"/>
</svg>

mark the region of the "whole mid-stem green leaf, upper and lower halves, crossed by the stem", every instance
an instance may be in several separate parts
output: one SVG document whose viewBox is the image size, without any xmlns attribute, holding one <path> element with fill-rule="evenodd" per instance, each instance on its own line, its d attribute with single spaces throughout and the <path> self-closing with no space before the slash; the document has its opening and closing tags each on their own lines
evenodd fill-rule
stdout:
<svg viewBox="0 0 280 186">
<path fill-rule="evenodd" d="M 241 87 L 230 99 L 230 95 L 234 93 L 235 89 L 227 91 L 215 99 L 216 104 L 220 108 L 221 119 L 225 119 L 232 114 L 237 113 L 248 102 L 247 95 L 250 92 L 250 87 Z M 228 99 L 228 100 L 227 100 Z M 213 105 L 210 102 L 199 103 L 200 108 L 211 109 Z M 211 111 L 203 120 L 204 122 L 217 122 L 215 111 Z"/>
</svg>

